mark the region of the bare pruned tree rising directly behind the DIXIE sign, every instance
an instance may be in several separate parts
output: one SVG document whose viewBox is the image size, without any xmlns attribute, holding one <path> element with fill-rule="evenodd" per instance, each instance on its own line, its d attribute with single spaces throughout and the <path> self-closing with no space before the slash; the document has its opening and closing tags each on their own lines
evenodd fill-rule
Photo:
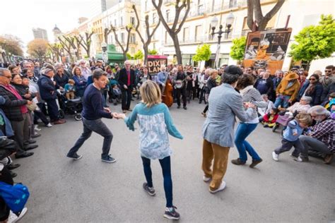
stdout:
<svg viewBox="0 0 335 223">
<path fill-rule="evenodd" d="M 141 32 L 139 31 L 139 26 L 140 26 L 140 20 L 139 20 L 139 13 L 137 13 L 136 10 L 136 6 L 133 5 L 133 9 L 136 15 L 136 20 L 137 20 L 137 24 L 135 26 L 135 30 L 137 32 L 137 34 L 139 35 L 141 42 L 143 44 L 143 51 L 144 51 L 144 64 L 146 64 L 147 60 L 148 60 L 148 54 L 149 54 L 149 44 L 151 43 L 151 40 L 153 38 L 153 35 L 155 34 L 155 31 L 157 30 L 158 26 L 160 25 L 160 19 L 158 20 L 158 23 L 155 24 L 155 27 L 153 28 L 152 32 L 150 33 L 150 25 L 149 25 L 149 16 L 146 15 L 146 41 L 143 39 Z"/>
</svg>

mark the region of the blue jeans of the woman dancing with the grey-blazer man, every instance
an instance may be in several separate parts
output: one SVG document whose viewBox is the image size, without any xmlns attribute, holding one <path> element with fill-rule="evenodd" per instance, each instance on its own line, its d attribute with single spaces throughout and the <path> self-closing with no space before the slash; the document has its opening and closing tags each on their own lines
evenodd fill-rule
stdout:
<svg viewBox="0 0 335 223">
<path fill-rule="evenodd" d="M 247 140 L 245 140 L 252 131 L 257 127 L 257 123 L 240 123 L 237 126 L 235 133 L 235 145 L 237 147 L 238 153 L 240 154 L 240 159 L 244 162 L 247 161 L 247 152 L 254 160 L 259 160 L 261 157 L 254 150 L 252 145 L 250 145 Z"/>
</svg>

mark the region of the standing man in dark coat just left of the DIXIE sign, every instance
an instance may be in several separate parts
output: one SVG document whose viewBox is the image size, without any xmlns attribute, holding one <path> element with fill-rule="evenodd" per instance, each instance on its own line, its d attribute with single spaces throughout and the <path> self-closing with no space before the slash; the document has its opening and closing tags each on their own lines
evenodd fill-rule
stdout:
<svg viewBox="0 0 335 223">
<path fill-rule="evenodd" d="M 132 111 L 130 109 L 131 103 L 131 91 L 135 86 L 135 71 L 130 68 L 130 62 L 124 62 L 124 68 L 119 71 L 118 82 L 120 85 L 120 89 L 122 92 L 121 100 L 122 100 L 122 111 L 126 113 L 126 111 Z"/>
</svg>

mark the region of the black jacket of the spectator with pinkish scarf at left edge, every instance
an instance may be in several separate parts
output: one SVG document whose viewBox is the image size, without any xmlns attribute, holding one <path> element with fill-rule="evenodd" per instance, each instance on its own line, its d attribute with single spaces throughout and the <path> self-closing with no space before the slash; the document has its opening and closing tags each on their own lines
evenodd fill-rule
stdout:
<svg viewBox="0 0 335 223">
<path fill-rule="evenodd" d="M 5 103 L 0 105 L 0 108 L 6 114 L 10 121 L 23 121 L 20 106 L 27 104 L 27 100 L 18 100 L 18 98 L 11 92 L 6 90 L 4 86 L 0 85 L 0 95 L 4 97 Z"/>
</svg>

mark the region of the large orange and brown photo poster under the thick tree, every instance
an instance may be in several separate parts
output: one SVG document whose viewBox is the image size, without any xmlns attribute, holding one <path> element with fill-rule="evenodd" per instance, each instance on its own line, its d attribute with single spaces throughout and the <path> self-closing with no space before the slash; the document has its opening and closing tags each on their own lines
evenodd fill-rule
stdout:
<svg viewBox="0 0 335 223">
<path fill-rule="evenodd" d="M 249 32 L 243 66 L 266 68 L 274 74 L 281 70 L 292 28 Z"/>
</svg>

